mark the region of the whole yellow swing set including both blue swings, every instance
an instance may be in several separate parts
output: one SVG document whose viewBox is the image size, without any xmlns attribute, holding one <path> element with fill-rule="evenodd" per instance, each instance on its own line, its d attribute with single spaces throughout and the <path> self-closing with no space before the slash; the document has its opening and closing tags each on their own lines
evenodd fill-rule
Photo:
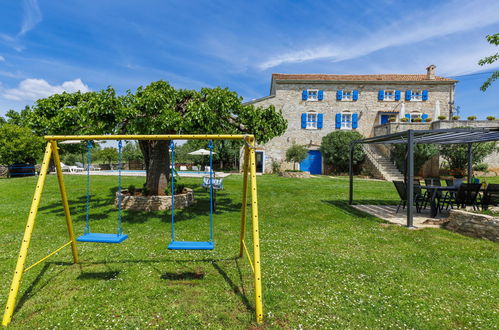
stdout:
<svg viewBox="0 0 499 330">
<path fill-rule="evenodd" d="M 64 136 L 45 136 L 47 146 L 42 161 L 42 167 L 38 182 L 36 185 L 31 208 L 28 215 L 24 237 L 21 242 L 19 257 L 14 271 L 12 284 L 10 287 L 7 304 L 3 315 L 2 325 L 7 326 L 12 320 L 14 313 L 16 298 L 19 293 L 22 276 L 25 272 L 42 263 L 46 259 L 55 255 L 67 246 L 71 246 L 73 255 L 73 263 L 78 263 L 78 249 L 77 242 L 92 242 L 92 243 L 122 243 L 128 238 L 128 235 L 123 234 L 122 230 L 122 216 L 121 216 L 121 170 L 122 170 L 122 141 L 123 140 L 171 140 L 171 191 L 174 192 L 175 178 L 175 140 L 210 140 L 210 239 L 205 242 L 192 242 L 192 241 L 176 241 L 175 240 L 175 197 L 172 194 L 172 216 L 171 216 L 171 242 L 168 245 L 170 250 L 213 250 L 213 172 L 212 172 L 212 150 L 213 143 L 211 140 L 239 140 L 244 142 L 244 165 L 243 165 L 243 194 L 242 194 L 242 207 L 241 207 L 241 226 L 239 235 L 239 257 L 243 254 L 246 255 L 251 270 L 254 276 L 254 290 L 255 290 L 255 314 L 256 322 L 263 322 L 263 302 L 262 302 L 262 282 L 260 270 L 260 238 L 259 238 L 259 225 L 258 225 L 258 200 L 257 200 L 257 187 L 256 187 L 256 157 L 255 157 L 255 139 L 253 135 L 64 135 Z M 69 203 L 64 185 L 61 161 L 57 146 L 57 141 L 87 141 L 87 187 L 86 187 L 86 210 L 85 210 L 85 229 L 83 235 L 75 237 L 73 231 L 73 223 L 71 220 L 71 213 L 69 210 Z M 118 164 L 118 229 L 115 234 L 113 233 L 94 233 L 90 230 L 90 151 L 92 149 L 93 140 L 118 140 L 119 151 L 119 164 Z M 50 160 L 53 157 L 55 164 L 57 180 L 59 183 L 59 190 L 61 194 L 61 201 L 64 208 L 64 215 L 66 218 L 66 226 L 68 230 L 69 241 L 54 250 L 47 256 L 33 263 L 29 267 L 25 267 L 26 258 L 28 255 L 31 236 L 33 233 L 36 215 L 40 204 L 40 198 L 45 184 L 47 171 L 49 169 Z M 248 180 L 250 181 L 248 183 Z M 252 241 L 253 241 L 253 254 L 249 252 L 245 243 L 246 234 L 246 215 L 247 215 L 247 199 L 248 199 L 248 185 L 251 191 L 251 219 L 252 219 Z"/>
</svg>

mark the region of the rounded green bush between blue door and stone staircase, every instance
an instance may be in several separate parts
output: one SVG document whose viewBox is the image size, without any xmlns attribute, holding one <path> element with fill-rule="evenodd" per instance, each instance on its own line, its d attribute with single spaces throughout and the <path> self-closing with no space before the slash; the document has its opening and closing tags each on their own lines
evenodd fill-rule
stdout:
<svg viewBox="0 0 499 330">
<path fill-rule="evenodd" d="M 350 159 L 350 144 L 364 137 L 356 131 L 335 131 L 322 138 L 321 152 L 324 161 L 333 164 L 338 172 L 348 172 Z M 353 163 L 358 165 L 364 161 L 364 150 L 356 144 L 353 150 Z"/>
</svg>

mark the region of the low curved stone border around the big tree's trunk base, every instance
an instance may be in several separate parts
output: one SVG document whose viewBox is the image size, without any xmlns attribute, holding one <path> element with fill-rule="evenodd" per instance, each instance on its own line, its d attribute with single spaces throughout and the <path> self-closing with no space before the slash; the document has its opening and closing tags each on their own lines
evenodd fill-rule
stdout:
<svg viewBox="0 0 499 330">
<path fill-rule="evenodd" d="M 191 206 L 196 201 L 192 189 L 185 188 L 184 194 L 175 195 L 175 208 L 183 209 Z M 123 190 L 121 209 L 130 211 L 164 211 L 172 208 L 172 196 L 130 196 L 125 195 L 127 190 Z M 118 193 L 114 205 L 118 206 Z"/>
</svg>

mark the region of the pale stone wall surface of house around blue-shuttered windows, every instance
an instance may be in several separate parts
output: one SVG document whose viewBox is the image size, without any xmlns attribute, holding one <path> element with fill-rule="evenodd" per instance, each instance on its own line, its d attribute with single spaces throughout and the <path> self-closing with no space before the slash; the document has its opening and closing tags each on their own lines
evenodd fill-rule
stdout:
<svg viewBox="0 0 499 330">
<path fill-rule="evenodd" d="M 335 128 L 335 115 L 341 112 L 358 114 L 358 128 L 356 131 L 369 137 L 374 134 L 374 127 L 380 122 L 381 113 L 393 113 L 396 115 L 405 105 L 405 113 L 421 112 L 433 118 L 436 103 L 440 104 L 441 115 L 449 115 L 449 101 L 452 93 L 452 83 L 437 82 L 414 82 L 414 83 L 378 83 L 378 82 L 276 82 L 275 95 L 248 102 L 256 107 L 267 107 L 274 105 L 281 109 L 284 118 L 288 121 L 288 129 L 279 137 L 276 137 L 262 145 L 265 149 L 265 169 L 271 170 L 271 163 L 276 160 L 280 163 L 285 161 L 286 150 L 297 143 L 306 146 L 309 150 L 319 148 L 322 138 L 337 130 Z M 322 101 L 303 101 L 302 91 L 305 89 L 318 89 L 324 91 Z M 337 90 L 358 90 L 357 101 L 337 101 Z M 428 90 L 427 101 L 404 101 L 404 93 L 400 101 L 379 101 L 378 90 L 391 89 L 401 90 L 417 89 Z M 323 114 L 322 129 L 302 129 L 301 114 L 316 112 Z M 424 123 L 423 123 L 424 124 Z M 242 162 L 241 162 L 242 163 Z M 324 168 L 324 166 L 323 166 Z"/>
</svg>

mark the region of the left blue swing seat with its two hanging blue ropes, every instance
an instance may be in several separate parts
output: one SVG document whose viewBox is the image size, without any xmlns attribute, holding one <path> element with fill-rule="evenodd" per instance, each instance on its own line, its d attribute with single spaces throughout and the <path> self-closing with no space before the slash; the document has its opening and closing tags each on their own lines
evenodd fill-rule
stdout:
<svg viewBox="0 0 499 330">
<path fill-rule="evenodd" d="M 90 231 L 90 152 L 92 150 L 92 141 L 87 141 L 87 198 L 85 205 L 85 229 L 83 235 L 76 240 L 78 242 L 91 243 L 121 243 L 128 238 L 128 235 L 123 234 L 121 224 L 121 167 L 122 167 L 122 141 L 118 142 L 118 231 L 116 234 L 92 233 Z"/>
</svg>

